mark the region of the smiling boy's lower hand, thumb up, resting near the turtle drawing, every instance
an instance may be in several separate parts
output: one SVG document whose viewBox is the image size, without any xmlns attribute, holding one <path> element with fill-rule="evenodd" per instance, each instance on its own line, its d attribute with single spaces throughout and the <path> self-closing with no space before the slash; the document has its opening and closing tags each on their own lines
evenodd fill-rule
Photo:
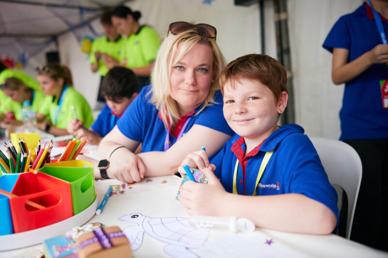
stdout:
<svg viewBox="0 0 388 258">
<path fill-rule="evenodd" d="M 200 170 L 208 183 L 184 182 L 180 188 L 179 201 L 186 207 L 189 215 L 222 216 L 220 206 L 224 203 L 227 192 L 209 168 L 202 167 Z"/>
</svg>

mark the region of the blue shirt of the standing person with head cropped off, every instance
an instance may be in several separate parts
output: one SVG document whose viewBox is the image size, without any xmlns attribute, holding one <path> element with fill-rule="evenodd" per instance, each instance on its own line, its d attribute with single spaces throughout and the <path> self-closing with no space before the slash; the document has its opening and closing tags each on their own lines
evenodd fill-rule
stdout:
<svg viewBox="0 0 388 258">
<path fill-rule="evenodd" d="M 388 21 L 380 15 L 388 35 Z M 355 12 L 343 15 L 327 35 L 323 47 L 349 50 L 348 62 L 354 61 L 382 44 L 371 7 L 364 3 Z M 341 119 L 341 140 L 388 138 L 388 109 L 383 108 L 379 80 L 388 79 L 387 64 L 373 64 L 345 83 Z"/>
</svg>

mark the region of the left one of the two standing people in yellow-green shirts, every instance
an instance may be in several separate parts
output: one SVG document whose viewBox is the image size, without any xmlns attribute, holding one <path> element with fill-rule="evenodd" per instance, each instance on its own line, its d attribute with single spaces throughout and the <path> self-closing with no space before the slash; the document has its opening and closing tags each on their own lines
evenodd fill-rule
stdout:
<svg viewBox="0 0 388 258">
<path fill-rule="evenodd" d="M 124 38 L 117 33 L 116 28 L 112 24 L 112 12 L 106 11 L 101 15 L 100 22 L 104 29 L 105 36 L 97 38 L 93 41 L 90 51 L 89 61 L 90 69 L 93 73 L 98 73 L 101 76 L 101 81 L 98 89 L 97 101 L 105 102 L 105 99 L 100 94 L 101 82 L 109 69 L 106 67 L 103 58 L 106 55 L 119 59 L 121 49 L 124 47 Z"/>
</svg>

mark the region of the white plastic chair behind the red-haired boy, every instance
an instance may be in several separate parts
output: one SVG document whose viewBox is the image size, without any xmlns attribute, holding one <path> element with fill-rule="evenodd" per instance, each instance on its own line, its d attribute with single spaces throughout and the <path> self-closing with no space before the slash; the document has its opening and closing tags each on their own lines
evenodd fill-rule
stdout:
<svg viewBox="0 0 388 258">
<path fill-rule="evenodd" d="M 350 145 L 342 141 L 319 137 L 310 137 L 310 140 L 318 152 L 329 182 L 342 187 L 348 197 L 346 238 L 349 239 L 361 184 L 361 159 Z"/>
</svg>

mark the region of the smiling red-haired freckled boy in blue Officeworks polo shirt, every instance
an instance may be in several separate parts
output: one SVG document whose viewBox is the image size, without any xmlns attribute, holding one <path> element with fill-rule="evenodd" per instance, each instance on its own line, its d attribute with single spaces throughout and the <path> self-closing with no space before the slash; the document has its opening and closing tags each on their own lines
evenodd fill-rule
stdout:
<svg viewBox="0 0 388 258">
<path fill-rule="evenodd" d="M 208 184 L 182 185 L 178 197 L 187 212 L 244 217 L 279 231 L 331 233 L 337 193 L 314 146 L 299 125 L 277 126 L 288 100 L 286 69 L 269 56 L 246 55 L 226 66 L 220 84 L 224 117 L 236 135 L 210 161 L 203 150 L 182 161 L 180 173 L 188 165 L 208 178 Z"/>
</svg>

